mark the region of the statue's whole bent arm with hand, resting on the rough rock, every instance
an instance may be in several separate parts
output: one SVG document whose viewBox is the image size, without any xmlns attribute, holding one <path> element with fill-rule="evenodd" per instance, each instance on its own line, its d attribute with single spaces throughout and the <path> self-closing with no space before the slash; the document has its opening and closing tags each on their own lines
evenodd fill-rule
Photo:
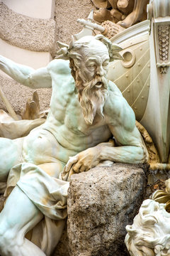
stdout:
<svg viewBox="0 0 170 256">
<path fill-rule="evenodd" d="M 106 122 L 118 146 L 108 142 L 86 149 L 68 161 L 66 172 L 71 167 L 77 173 L 88 171 L 106 160 L 128 164 L 147 162 L 147 148 L 135 126 L 135 114 L 123 97 L 118 97 L 118 102 L 106 109 Z"/>
</svg>

